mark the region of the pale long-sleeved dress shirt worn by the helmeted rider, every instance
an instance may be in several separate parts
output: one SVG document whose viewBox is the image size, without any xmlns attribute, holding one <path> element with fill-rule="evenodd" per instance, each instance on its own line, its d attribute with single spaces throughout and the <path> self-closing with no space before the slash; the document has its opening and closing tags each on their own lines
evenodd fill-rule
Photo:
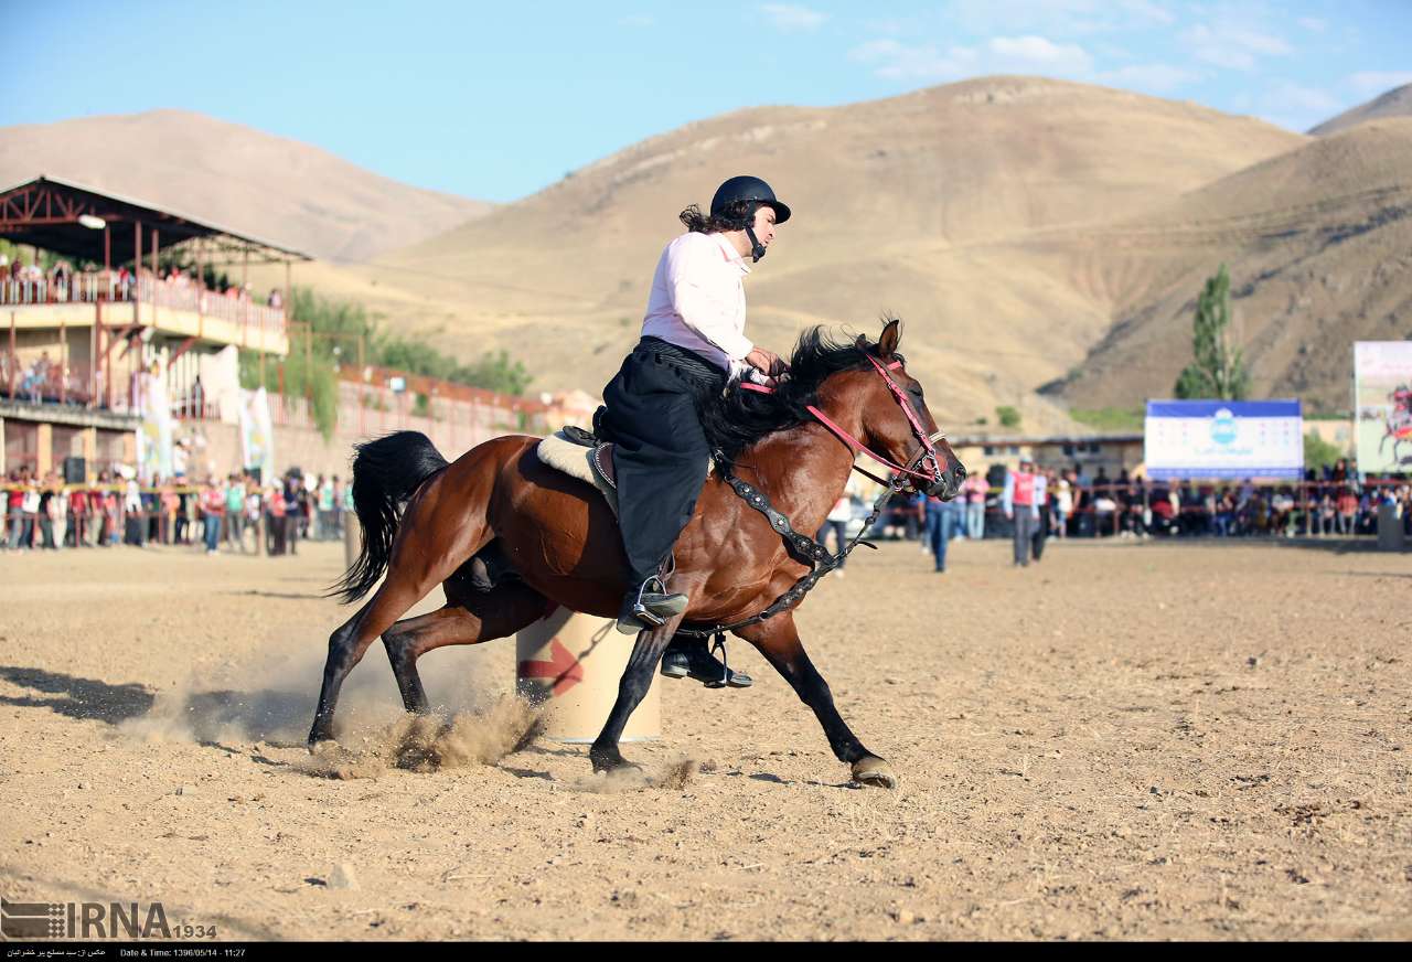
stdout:
<svg viewBox="0 0 1412 962">
<path fill-rule="evenodd" d="M 657 261 L 642 336 L 693 350 L 740 377 L 746 355 L 755 349 L 746 338 L 748 273 L 740 251 L 719 233 L 676 237 Z"/>
</svg>

